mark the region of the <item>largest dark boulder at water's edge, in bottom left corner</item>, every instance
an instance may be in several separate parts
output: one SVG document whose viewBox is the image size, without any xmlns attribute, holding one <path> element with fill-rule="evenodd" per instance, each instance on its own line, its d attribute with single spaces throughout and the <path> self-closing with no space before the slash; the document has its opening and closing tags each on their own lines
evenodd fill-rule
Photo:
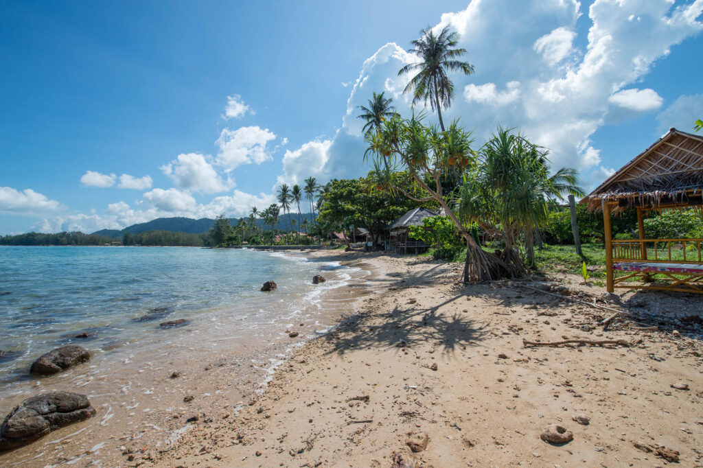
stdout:
<svg viewBox="0 0 703 468">
<path fill-rule="evenodd" d="M 85 395 L 54 391 L 32 396 L 12 410 L 0 425 L 0 452 L 46 436 L 60 427 L 95 415 Z"/>
</svg>

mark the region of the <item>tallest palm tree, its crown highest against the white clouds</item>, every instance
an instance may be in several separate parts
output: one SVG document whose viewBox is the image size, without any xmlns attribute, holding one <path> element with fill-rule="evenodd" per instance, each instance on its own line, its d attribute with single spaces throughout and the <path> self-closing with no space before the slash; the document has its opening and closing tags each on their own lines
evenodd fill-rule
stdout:
<svg viewBox="0 0 703 468">
<path fill-rule="evenodd" d="M 398 72 L 400 76 L 418 70 L 403 92 L 413 92 L 413 104 L 424 100 L 427 105 L 427 101 L 430 101 L 432 110 L 437 110 L 441 131 L 444 131 L 441 107 L 449 108 L 454 93 L 454 84 L 446 73 L 448 71 L 459 71 L 464 74 L 474 72 L 473 65 L 456 60 L 466 53 L 465 48 L 455 48 L 458 41 L 459 34 L 456 31 L 450 31 L 449 26 L 445 26 L 437 36 L 430 27 L 421 30 L 420 39 L 412 41 L 415 48 L 411 48 L 408 52 L 418 56 L 422 61 L 409 63 Z"/>
</svg>

